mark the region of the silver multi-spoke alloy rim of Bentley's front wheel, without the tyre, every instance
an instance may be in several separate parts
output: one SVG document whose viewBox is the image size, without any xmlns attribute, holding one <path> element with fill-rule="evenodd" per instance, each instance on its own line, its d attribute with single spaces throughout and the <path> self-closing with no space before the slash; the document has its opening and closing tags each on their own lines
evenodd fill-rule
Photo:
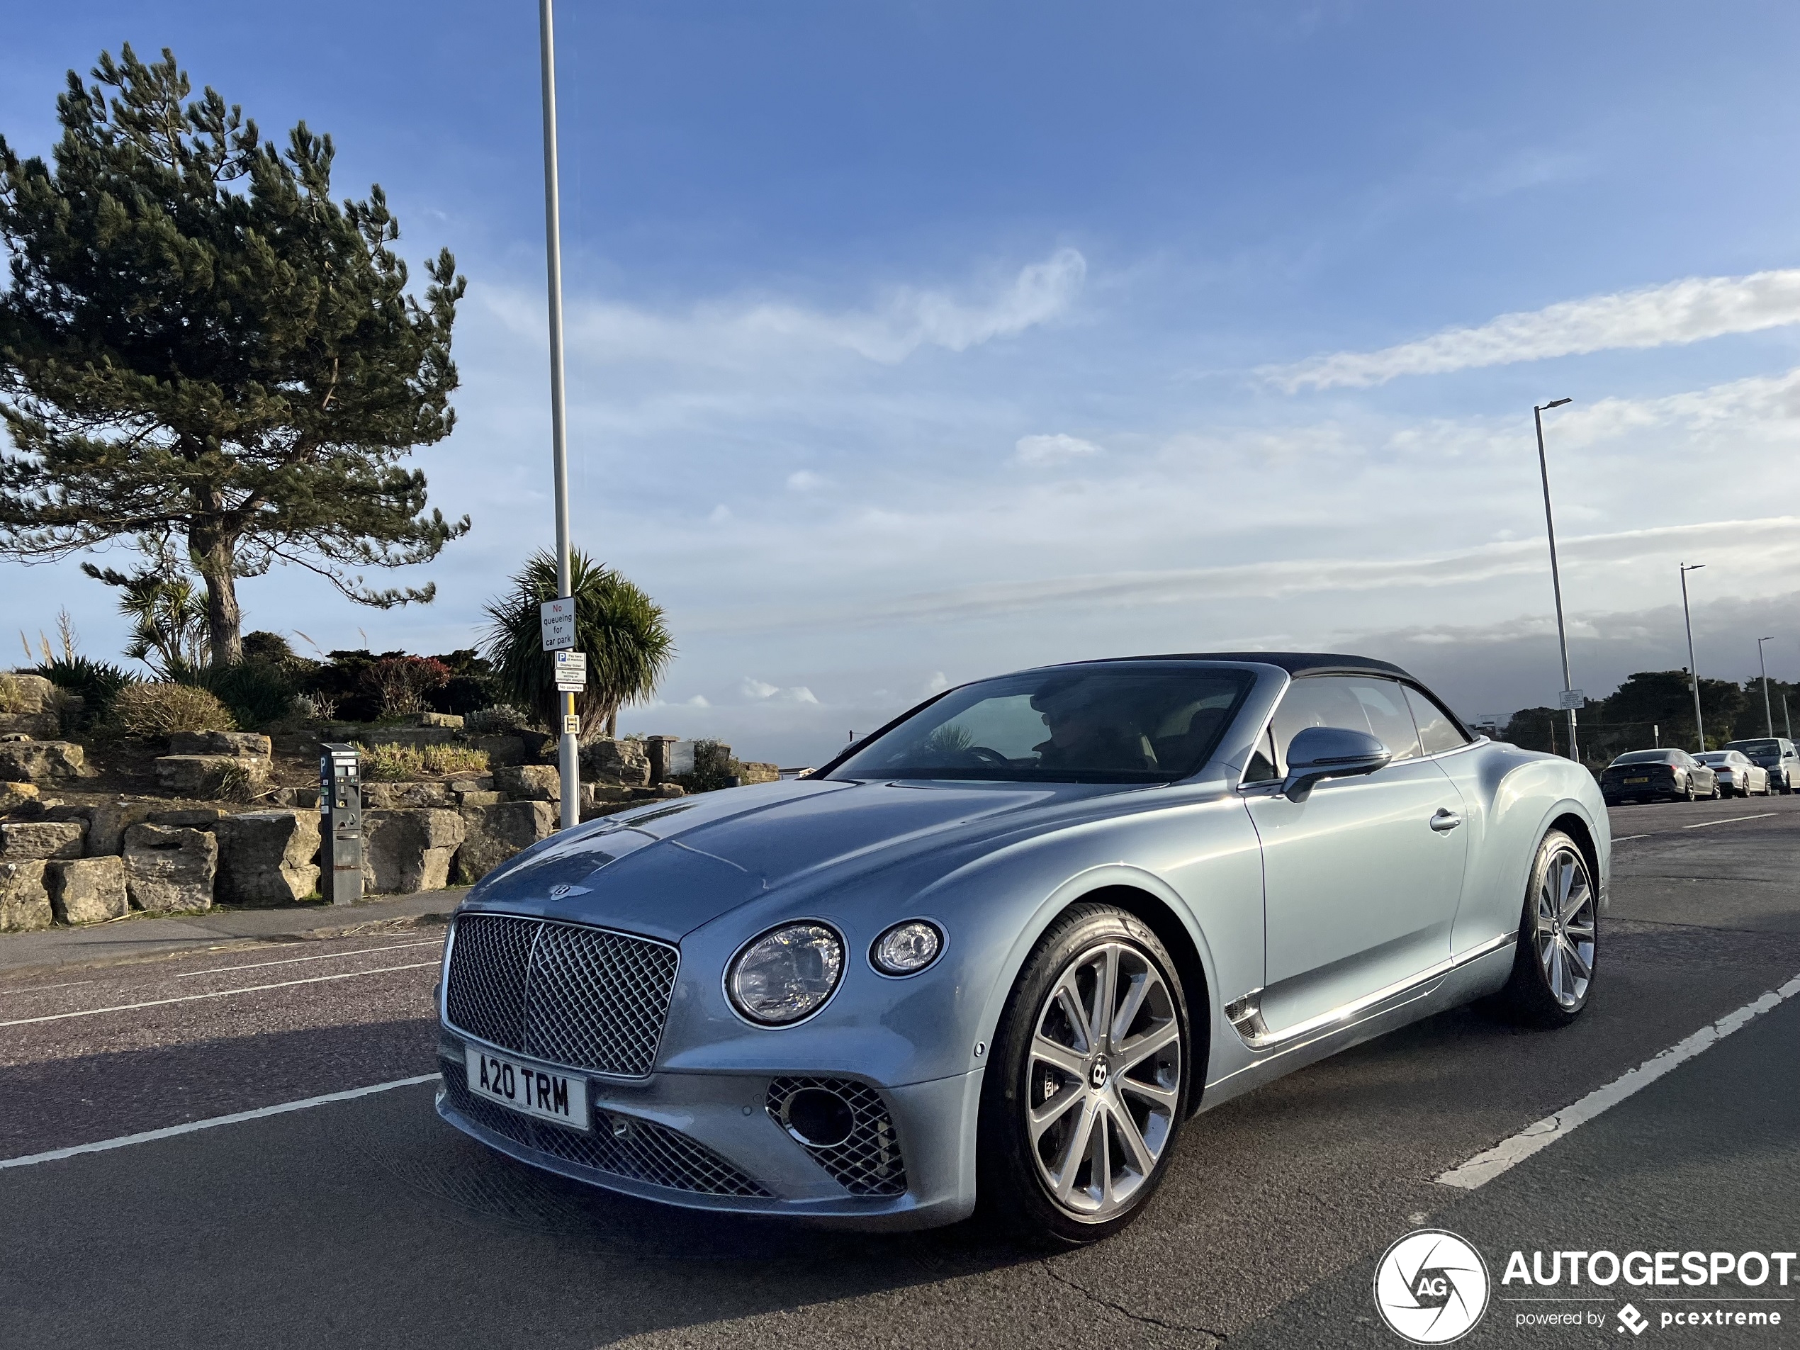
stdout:
<svg viewBox="0 0 1800 1350">
<path fill-rule="evenodd" d="M 1181 1109 L 1181 1021 L 1163 974 L 1121 941 L 1089 947 L 1037 1010 L 1026 1138 L 1051 1201 L 1085 1222 L 1130 1208 Z"/>
</svg>

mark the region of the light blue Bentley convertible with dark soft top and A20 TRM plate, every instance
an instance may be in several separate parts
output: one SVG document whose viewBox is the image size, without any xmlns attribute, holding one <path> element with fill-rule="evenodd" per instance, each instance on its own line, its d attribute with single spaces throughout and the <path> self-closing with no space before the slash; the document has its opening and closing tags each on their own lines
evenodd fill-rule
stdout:
<svg viewBox="0 0 1800 1350">
<path fill-rule="evenodd" d="M 787 781 L 563 832 L 459 907 L 457 1129 L 673 1204 L 1107 1237 L 1183 1121 L 1498 994 L 1562 1026 L 1611 839 L 1575 763 L 1312 653 L 1030 670 Z"/>
</svg>

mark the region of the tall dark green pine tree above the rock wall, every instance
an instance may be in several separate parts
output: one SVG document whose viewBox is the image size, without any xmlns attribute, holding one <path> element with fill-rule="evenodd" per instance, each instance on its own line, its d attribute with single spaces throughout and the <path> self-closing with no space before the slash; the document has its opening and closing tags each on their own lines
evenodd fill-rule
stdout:
<svg viewBox="0 0 1800 1350">
<path fill-rule="evenodd" d="M 277 562 L 364 605 L 430 601 L 356 569 L 468 531 L 401 466 L 455 423 L 455 259 L 419 302 L 380 185 L 333 202 L 329 135 L 263 144 L 212 88 L 187 103 L 167 49 L 92 74 L 58 97 L 54 169 L 0 137 L 0 556 L 180 540 L 218 666 L 241 655 L 236 581 Z"/>
</svg>

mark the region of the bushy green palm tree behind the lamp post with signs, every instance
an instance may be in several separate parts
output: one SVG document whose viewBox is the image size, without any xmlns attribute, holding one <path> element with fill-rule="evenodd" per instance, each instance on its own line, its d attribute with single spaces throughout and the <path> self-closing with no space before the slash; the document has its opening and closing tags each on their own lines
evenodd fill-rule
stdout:
<svg viewBox="0 0 1800 1350">
<path fill-rule="evenodd" d="M 587 691 L 576 695 L 581 740 L 612 736 L 619 709 L 650 698 L 675 657 L 662 607 L 585 553 L 569 554 L 574 592 L 574 646 L 587 653 Z M 538 553 L 513 576 L 513 589 L 491 599 L 484 655 L 513 700 L 556 725 L 554 661 L 544 650 L 538 607 L 556 599 L 556 558 Z"/>
</svg>

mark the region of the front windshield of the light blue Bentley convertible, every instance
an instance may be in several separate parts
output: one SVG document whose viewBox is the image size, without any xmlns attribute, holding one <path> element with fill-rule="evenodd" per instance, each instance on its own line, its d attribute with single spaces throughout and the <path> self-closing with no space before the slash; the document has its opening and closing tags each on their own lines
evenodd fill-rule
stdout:
<svg viewBox="0 0 1800 1350">
<path fill-rule="evenodd" d="M 1172 783 L 1206 763 L 1255 679 L 1098 666 L 981 680 L 869 742 L 832 778 Z"/>
</svg>

